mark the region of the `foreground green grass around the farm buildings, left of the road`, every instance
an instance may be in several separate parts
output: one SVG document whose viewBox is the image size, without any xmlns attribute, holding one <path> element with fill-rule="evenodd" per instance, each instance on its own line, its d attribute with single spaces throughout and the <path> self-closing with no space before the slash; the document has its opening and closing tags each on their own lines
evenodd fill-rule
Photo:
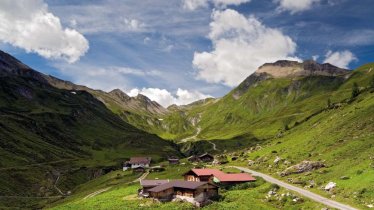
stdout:
<svg viewBox="0 0 374 210">
<path fill-rule="evenodd" d="M 151 173 L 147 179 L 181 179 L 182 174 L 189 170 L 191 165 L 173 165 L 167 166 L 166 171 Z M 121 178 L 117 177 L 117 173 L 122 173 Z M 132 175 L 128 172 L 113 172 L 105 175 L 96 181 L 91 181 L 79 186 L 76 192 L 65 200 L 61 200 L 50 209 L 194 209 L 189 203 L 156 203 L 151 199 L 136 198 L 139 184 L 121 184 L 129 180 Z M 132 177 L 134 178 L 134 177 Z M 122 181 L 119 181 L 122 180 Z M 121 183 L 118 183 L 121 182 Z M 96 195 L 95 197 L 84 199 L 84 197 L 97 189 L 107 186 L 113 187 L 106 192 Z M 258 179 L 256 183 L 252 183 L 249 187 L 237 188 L 232 190 L 221 189 L 222 195 L 219 201 L 204 207 L 203 209 L 316 209 L 322 208 L 322 205 L 315 204 L 309 200 L 300 203 L 292 201 L 291 197 L 280 199 L 282 194 L 288 191 L 279 189 L 277 194 L 279 197 L 267 199 L 267 193 L 274 188 L 273 185 L 265 183 L 262 179 Z M 299 196 L 298 196 L 299 197 Z"/>
</svg>

